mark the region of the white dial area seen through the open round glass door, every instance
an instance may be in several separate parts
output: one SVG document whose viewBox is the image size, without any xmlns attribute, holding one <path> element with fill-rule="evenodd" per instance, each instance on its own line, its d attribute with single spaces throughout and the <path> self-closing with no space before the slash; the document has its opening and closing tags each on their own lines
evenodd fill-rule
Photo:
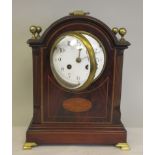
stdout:
<svg viewBox="0 0 155 155">
<path fill-rule="evenodd" d="M 87 80 L 90 73 L 89 56 L 86 47 L 77 38 L 65 36 L 51 56 L 55 71 L 66 84 L 79 87 Z"/>
</svg>

